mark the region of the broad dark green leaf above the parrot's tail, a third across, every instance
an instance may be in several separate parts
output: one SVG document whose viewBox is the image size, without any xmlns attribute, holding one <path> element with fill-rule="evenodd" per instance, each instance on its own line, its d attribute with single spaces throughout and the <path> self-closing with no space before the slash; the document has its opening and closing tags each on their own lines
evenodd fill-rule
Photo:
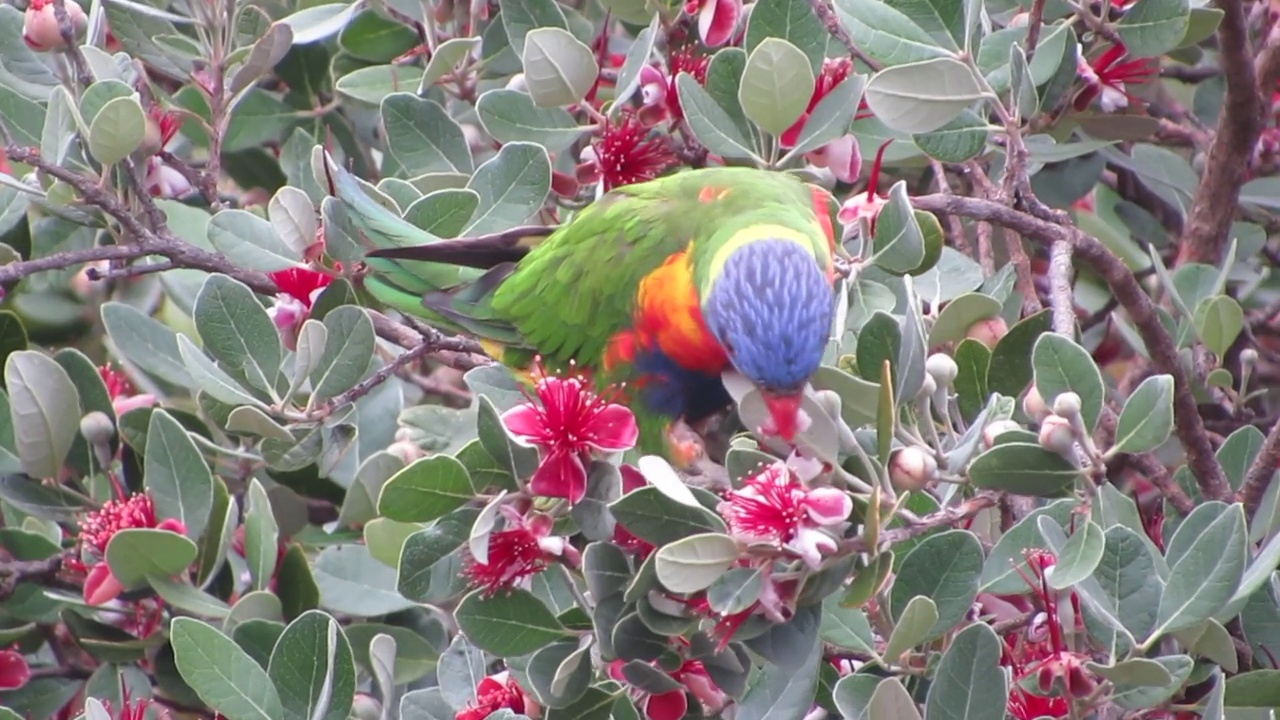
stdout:
<svg viewBox="0 0 1280 720">
<path fill-rule="evenodd" d="M 387 149 L 408 174 L 471 172 L 471 146 L 439 102 L 393 92 L 383 99 L 381 114 Z"/>
</svg>

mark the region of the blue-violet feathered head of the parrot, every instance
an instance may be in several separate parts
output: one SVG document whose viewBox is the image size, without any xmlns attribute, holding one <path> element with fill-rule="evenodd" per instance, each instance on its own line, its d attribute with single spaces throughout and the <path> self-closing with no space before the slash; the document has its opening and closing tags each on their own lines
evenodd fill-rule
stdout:
<svg viewBox="0 0 1280 720">
<path fill-rule="evenodd" d="M 791 393 L 822 364 L 835 297 L 813 254 L 792 241 L 758 240 L 730 255 L 703 314 L 740 373 Z"/>
</svg>

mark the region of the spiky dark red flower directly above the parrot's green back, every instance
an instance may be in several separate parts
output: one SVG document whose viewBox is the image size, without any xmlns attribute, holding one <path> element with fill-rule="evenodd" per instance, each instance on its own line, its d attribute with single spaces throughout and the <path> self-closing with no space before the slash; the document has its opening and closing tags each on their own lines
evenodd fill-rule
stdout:
<svg viewBox="0 0 1280 720">
<path fill-rule="evenodd" d="M 678 160 L 666 137 L 648 140 L 649 128 L 632 113 L 608 119 L 600 138 L 582 150 L 582 182 L 602 181 L 604 191 L 652 181 Z"/>
</svg>

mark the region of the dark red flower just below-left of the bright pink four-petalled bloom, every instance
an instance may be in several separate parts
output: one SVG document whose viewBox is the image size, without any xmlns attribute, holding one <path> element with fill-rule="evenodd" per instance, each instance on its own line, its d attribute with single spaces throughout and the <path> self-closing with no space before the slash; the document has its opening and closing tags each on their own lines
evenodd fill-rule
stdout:
<svg viewBox="0 0 1280 720">
<path fill-rule="evenodd" d="M 577 550 L 567 539 L 550 534 L 554 520 L 549 515 L 526 518 L 511 505 L 503 505 L 500 512 L 507 519 L 507 528 L 489 534 L 484 562 L 465 553 L 462 574 L 472 585 L 484 588 L 485 594 L 509 589 L 541 573 L 548 560 L 576 559 Z"/>
</svg>

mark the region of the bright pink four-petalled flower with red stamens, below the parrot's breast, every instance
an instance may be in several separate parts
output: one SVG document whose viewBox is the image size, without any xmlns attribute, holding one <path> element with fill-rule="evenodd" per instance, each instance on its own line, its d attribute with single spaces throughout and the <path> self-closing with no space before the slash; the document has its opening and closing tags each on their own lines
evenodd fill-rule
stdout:
<svg viewBox="0 0 1280 720">
<path fill-rule="evenodd" d="M 538 402 L 507 410 L 502 421 L 526 447 L 536 447 L 540 460 L 529 487 L 534 495 L 564 497 L 570 503 L 586 495 L 586 470 L 593 452 L 622 452 L 640 437 L 636 418 L 614 393 L 596 395 L 581 375 L 541 375 L 535 386 Z"/>
</svg>

